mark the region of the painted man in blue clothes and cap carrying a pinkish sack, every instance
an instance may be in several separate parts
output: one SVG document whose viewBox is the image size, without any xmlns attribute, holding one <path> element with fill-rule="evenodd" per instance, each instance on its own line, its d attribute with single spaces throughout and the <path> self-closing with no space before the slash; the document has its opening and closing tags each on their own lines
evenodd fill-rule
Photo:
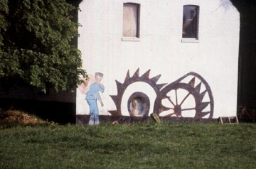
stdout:
<svg viewBox="0 0 256 169">
<path fill-rule="evenodd" d="M 85 83 L 82 83 L 78 89 L 82 94 L 86 94 L 85 100 L 90 107 L 89 125 L 97 125 L 100 124 L 97 101 L 100 102 L 102 107 L 104 106 L 99 94 L 99 92 L 103 93 L 105 90 L 104 85 L 100 83 L 103 74 L 101 72 L 95 72 L 95 77 L 93 75 L 88 75 L 88 77 L 87 80 L 83 79 Z"/>
</svg>

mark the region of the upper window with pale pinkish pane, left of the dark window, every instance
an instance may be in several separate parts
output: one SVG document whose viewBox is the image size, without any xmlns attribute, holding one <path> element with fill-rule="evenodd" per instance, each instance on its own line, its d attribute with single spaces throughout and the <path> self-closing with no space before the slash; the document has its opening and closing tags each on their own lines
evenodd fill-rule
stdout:
<svg viewBox="0 0 256 169">
<path fill-rule="evenodd" d="M 139 38 L 139 4 L 124 3 L 123 37 Z"/>
</svg>

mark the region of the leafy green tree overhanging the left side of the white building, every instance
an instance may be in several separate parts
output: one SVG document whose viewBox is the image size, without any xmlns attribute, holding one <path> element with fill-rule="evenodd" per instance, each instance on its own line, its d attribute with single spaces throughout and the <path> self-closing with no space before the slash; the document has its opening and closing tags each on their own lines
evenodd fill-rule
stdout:
<svg viewBox="0 0 256 169">
<path fill-rule="evenodd" d="M 79 9 L 65 0 L 0 0 L 0 87 L 70 90 L 79 82 Z"/>
</svg>

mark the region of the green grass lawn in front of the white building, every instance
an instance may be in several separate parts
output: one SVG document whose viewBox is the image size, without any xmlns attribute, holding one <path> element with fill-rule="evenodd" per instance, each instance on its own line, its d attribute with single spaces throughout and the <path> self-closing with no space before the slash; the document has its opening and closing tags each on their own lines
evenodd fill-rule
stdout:
<svg viewBox="0 0 256 169">
<path fill-rule="evenodd" d="M 14 126 L 0 145 L 0 168 L 256 168 L 256 124 Z"/>
</svg>

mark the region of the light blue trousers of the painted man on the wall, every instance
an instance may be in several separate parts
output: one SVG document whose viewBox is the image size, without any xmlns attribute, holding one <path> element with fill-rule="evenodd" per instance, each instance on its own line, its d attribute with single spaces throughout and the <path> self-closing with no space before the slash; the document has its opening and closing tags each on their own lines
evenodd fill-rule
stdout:
<svg viewBox="0 0 256 169">
<path fill-rule="evenodd" d="M 87 103 L 89 104 L 89 107 L 90 107 L 89 125 L 100 124 L 99 109 L 97 107 L 97 100 L 87 99 Z"/>
</svg>

